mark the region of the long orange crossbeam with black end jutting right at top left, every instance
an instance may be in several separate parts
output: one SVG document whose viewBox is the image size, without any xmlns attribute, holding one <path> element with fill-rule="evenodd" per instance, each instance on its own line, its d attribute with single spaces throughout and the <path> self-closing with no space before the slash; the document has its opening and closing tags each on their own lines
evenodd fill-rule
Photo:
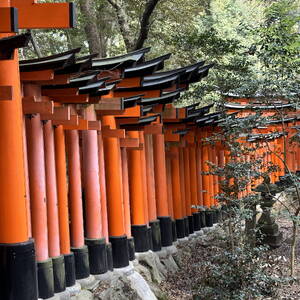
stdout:
<svg viewBox="0 0 300 300">
<path fill-rule="evenodd" d="M 73 3 L 11 0 L 11 6 L 18 8 L 20 29 L 72 28 L 75 25 Z"/>
</svg>

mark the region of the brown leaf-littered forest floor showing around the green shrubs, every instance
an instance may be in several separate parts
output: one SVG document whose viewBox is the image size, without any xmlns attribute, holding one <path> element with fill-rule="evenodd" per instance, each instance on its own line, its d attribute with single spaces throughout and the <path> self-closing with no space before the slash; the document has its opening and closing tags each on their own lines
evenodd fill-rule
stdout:
<svg viewBox="0 0 300 300">
<path fill-rule="evenodd" d="M 284 283 L 280 282 L 273 288 L 272 297 L 260 297 L 256 299 L 264 300 L 296 300 L 300 299 L 300 243 L 297 245 L 297 262 L 295 268 L 295 277 L 289 278 L 289 255 L 290 241 L 292 235 L 292 224 L 283 218 L 277 220 L 280 231 L 283 233 L 283 241 L 279 248 L 268 252 L 272 269 L 270 272 L 280 280 L 286 279 Z M 179 264 L 179 271 L 169 274 L 168 278 L 160 284 L 161 290 L 167 294 L 169 300 L 190 300 L 201 283 L 201 277 L 205 269 L 201 262 L 211 261 L 218 252 L 224 251 L 219 246 L 218 228 L 211 231 L 205 238 L 197 239 L 194 243 L 185 243 L 178 245 L 178 254 L 175 260 Z M 274 267 L 275 266 L 275 267 Z M 289 279 L 288 279 L 289 278 Z M 201 299 L 201 298 L 199 298 Z M 206 298 L 205 300 L 223 300 L 221 298 Z M 243 298 L 240 298 L 243 299 Z M 243 300 L 256 300 L 243 299 Z"/>
</svg>

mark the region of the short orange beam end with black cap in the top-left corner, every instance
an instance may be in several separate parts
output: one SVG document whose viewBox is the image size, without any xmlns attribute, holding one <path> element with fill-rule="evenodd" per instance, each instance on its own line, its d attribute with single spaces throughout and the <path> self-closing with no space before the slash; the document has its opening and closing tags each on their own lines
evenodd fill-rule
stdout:
<svg viewBox="0 0 300 300">
<path fill-rule="evenodd" d="M 0 7 L 0 33 L 18 32 L 18 10 Z"/>
</svg>

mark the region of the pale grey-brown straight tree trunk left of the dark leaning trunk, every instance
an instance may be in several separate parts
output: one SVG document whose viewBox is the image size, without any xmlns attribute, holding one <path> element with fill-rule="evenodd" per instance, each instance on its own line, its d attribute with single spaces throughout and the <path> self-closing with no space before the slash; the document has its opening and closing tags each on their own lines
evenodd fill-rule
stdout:
<svg viewBox="0 0 300 300">
<path fill-rule="evenodd" d="M 79 1 L 81 13 L 85 19 L 85 34 L 89 44 L 90 53 L 98 53 L 103 56 L 103 49 L 101 45 L 101 38 L 97 26 L 96 12 L 91 0 Z"/>
</svg>

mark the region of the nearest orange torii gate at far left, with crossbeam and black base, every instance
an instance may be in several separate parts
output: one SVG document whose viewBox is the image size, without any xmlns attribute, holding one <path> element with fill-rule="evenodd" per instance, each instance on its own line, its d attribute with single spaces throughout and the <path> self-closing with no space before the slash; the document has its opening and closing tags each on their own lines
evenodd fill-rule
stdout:
<svg viewBox="0 0 300 300">
<path fill-rule="evenodd" d="M 20 29 L 71 28 L 72 3 L 0 0 L 0 39 Z M 29 238 L 18 45 L 0 49 L 0 298 L 36 300 L 34 242 Z M 4 59 L 3 59 L 4 58 Z"/>
</svg>

